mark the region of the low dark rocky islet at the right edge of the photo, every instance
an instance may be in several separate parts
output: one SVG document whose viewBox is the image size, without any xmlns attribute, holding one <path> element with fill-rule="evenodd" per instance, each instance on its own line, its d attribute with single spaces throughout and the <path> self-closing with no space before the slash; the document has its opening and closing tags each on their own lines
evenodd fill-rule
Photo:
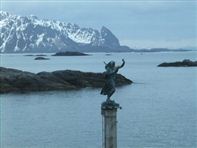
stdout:
<svg viewBox="0 0 197 148">
<path fill-rule="evenodd" d="M 189 59 L 185 59 L 183 61 L 177 61 L 177 62 L 170 62 L 170 63 L 161 63 L 158 65 L 158 67 L 192 67 L 197 66 L 197 61 L 191 61 Z"/>
</svg>

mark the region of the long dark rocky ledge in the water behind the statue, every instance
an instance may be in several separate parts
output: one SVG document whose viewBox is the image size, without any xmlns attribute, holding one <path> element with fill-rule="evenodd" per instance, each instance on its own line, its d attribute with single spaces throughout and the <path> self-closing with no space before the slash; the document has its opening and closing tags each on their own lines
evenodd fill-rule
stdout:
<svg viewBox="0 0 197 148">
<path fill-rule="evenodd" d="M 102 73 L 58 70 L 37 74 L 0 67 L 0 93 L 47 90 L 74 90 L 85 87 L 100 88 L 104 85 Z M 118 74 L 116 85 L 131 84 L 132 81 Z"/>
</svg>

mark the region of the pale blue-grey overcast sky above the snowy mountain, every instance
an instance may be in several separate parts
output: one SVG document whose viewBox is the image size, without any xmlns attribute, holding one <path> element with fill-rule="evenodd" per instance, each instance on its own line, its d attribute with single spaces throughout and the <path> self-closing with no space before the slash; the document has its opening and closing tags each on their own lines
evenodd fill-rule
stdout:
<svg viewBox="0 0 197 148">
<path fill-rule="evenodd" d="M 197 0 L 0 0 L 1 10 L 109 28 L 131 48 L 197 47 Z"/>
</svg>

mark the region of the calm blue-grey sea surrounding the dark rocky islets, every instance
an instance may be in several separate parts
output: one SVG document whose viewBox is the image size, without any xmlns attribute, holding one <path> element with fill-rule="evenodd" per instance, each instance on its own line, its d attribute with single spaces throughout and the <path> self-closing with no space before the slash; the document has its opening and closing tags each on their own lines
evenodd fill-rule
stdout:
<svg viewBox="0 0 197 148">
<path fill-rule="evenodd" d="M 0 55 L 1 66 L 30 72 L 74 69 L 103 72 L 103 61 L 126 65 L 119 73 L 135 83 L 117 88 L 120 148 L 197 147 L 197 68 L 157 67 L 162 62 L 197 60 L 197 52 L 92 53 L 84 57 L 34 60 Z M 32 92 L 0 96 L 1 148 L 101 148 L 99 89 Z"/>
</svg>

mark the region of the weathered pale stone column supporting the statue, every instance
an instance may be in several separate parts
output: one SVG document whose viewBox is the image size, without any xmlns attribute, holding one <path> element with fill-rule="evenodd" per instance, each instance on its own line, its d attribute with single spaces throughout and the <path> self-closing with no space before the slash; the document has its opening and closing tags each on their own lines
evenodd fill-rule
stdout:
<svg viewBox="0 0 197 148">
<path fill-rule="evenodd" d="M 119 104 L 106 101 L 101 105 L 103 117 L 103 147 L 117 148 L 117 109 Z"/>
</svg>

